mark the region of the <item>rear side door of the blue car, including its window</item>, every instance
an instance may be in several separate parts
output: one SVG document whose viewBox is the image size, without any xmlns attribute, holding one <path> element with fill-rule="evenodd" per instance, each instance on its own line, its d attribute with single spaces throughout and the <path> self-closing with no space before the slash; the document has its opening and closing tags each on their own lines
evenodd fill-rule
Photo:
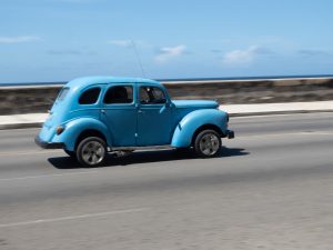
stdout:
<svg viewBox="0 0 333 250">
<path fill-rule="evenodd" d="M 133 84 L 118 83 L 107 88 L 101 119 L 112 137 L 112 147 L 135 146 L 137 107 L 134 106 Z"/>
</svg>

